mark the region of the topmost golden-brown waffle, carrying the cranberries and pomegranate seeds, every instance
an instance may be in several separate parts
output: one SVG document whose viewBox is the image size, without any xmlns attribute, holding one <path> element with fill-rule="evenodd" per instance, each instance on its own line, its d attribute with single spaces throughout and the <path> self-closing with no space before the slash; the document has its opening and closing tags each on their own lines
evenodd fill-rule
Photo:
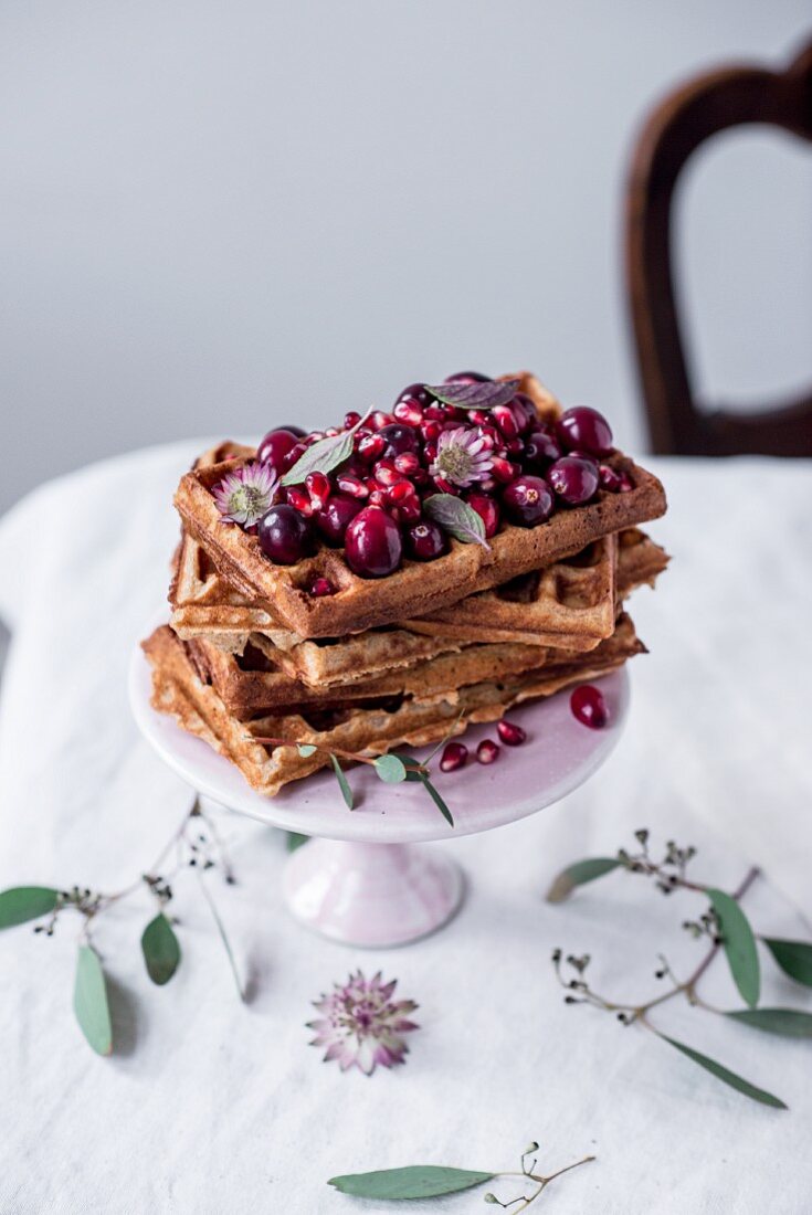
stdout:
<svg viewBox="0 0 812 1215">
<path fill-rule="evenodd" d="M 532 377 L 521 377 L 520 386 L 537 402 L 540 413 L 551 413 L 552 400 Z M 633 488 L 626 493 L 600 491 L 594 502 L 558 510 L 536 527 L 508 525 L 492 538 L 490 549 L 451 539 L 450 552 L 434 561 L 406 560 L 388 578 L 361 578 L 353 573 L 340 549 L 327 547 L 295 565 L 275 565 L 263 554 L 256 536 L 222 522 L 210 491 L 226 471 L 247 462 L 243 456 L 192 469 L 181 477 L 175 505 L 185 530 L 199 542 L 219 573 L 255 610 L 301 638 L 339 637 L 428 616 L 665 512 L 658 479 L 615 453 L 607 463 L 631 479 Z M 310 595 L 308 587 L 316 577 L 327 578 L 335 593 Z"/>
</svg>

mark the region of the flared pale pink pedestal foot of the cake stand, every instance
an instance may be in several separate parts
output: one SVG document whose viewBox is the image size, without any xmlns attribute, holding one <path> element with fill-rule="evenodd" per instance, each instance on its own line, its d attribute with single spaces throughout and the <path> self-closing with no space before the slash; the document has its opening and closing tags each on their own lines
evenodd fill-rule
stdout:
<svg viewBox="0 0 812 1215">
<path fill-rule="evenodd" d="M 345 945 L 405 945 L 462 902 L 462 870 L 436 848 L 310 840 L 288 858 L 284 897 L 309 928 Z"/>
</svg>

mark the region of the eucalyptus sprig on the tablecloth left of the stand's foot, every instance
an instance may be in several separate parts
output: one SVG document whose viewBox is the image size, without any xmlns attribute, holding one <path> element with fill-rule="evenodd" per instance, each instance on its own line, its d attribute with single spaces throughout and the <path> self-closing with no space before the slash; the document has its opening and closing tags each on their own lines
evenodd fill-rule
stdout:
<svg viewBox="0 0 812 1215">
<path fill-rule="evenodd" d="M 167 868 L 170 858 L 171 861 Z M 0 891 L 0 928 L 12 928 L 36 920 L 40 922 L 34 926 L 34 933 L 52 937 L 66 914 L 73 912 L 79 916 L 73 1010 L 83 1034 L 97 1055 L 112 1053 L 113 1028 L 107 981 L 102 957 L 94 944 L 94 928 L 102 915 L 146 887 L 156 902 L 157 914 L 141 934 L 141 953 L 147 974 L 153 983 L 163 987 L 175 974 L 181 961 L 180 942 L 175 933 L 179 921 L 168 915 L 167 909 L 175 897 L 171 882 L 184 869 L 191 869 L 198 876 L 201 891 L 222 939 L 242 999 L 242 985 L 231 946 L 204 874 L 219 869 L 229 885 L 233 885 L 236 878 L 216 826 L 202 809 L 198 797 L 194 797 L 180 826 L 162 848 L 150 871 L 141 874 L 120 891 L 107 894 L 80 886 L 72 886 L 68 889 L 55 889 L 50 886 L 13 886 Z"/>
</svg>

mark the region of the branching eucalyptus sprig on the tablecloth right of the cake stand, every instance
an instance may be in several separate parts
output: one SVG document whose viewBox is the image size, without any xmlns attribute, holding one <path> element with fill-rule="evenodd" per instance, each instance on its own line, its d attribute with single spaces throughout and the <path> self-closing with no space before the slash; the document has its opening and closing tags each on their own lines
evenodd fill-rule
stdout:
<svg viewBox="0 0 812 1215">
<path fill-rule="evenodd" d="M 732 894 L 728 894 L 714 885 L 698 882 L 687 876 L 688 866 L 697 854 L 697 849 L 693 846 L 681 848 L 670 840 L 666 843 L 662 857 L 655 860 L 649 852 L 649 832 L 647 830 L 637 831 L 635 838 L 638 844 L 636 852 L 620 848 L 615 857 L 592 857 L 569 865 L 553 881 L 547 893 L 547 900 L 549 903 L 562 903 L 577 886 L 593 882 L 613 870 L 639 874 L 653 878 L 656 889 L 662 894 L 671 894 L 676 889 L 686 889 L 695 894 L 701 894 L 707 899 L 706 909 L 695 919 L 683 921 L 682 927 L 694 939 L 709 940 L 710 949 L 693 973 L 682 981 L 677 978 L 667 959 L 660 954 L 659 966 L 654 972 L 654 977 L 656 979 L 666 979 L 670 983 L 669 990 L 652 1000 L 628 1004 L 609 1000 L 588 984 L 585 978 L 585 972 L 590 965 L 588 954 L 580 956 L 569 954 L 564 956 L 560 949 L 556 949 L 553 951 L 553 966 L 559 983 L 566 989 L 565 1002 L 587 1004 L 593 1008 L 613 1013 L 622 1025 L 639 1025 L 648 1029 L 661 1041 L 673 1046 L 675 1050 L 706 1072 L 710 1072 L 717 1080 L 729 1085 L 744 1096 L 762 1104 L 772 1106 L 776 1109 L 786 1109 L 786 1106 L 779 1097 L 757 1087 L 743 1076 L 731 1072 L 722 1063 L 709 1058 L 692 1046 L 687 1046 L 684 1042 L 680 1042 L 669 1034 L 662 1033 L 652 1023 L 649 1015 L 652 1010 L 680 996 L 687 1000 L 693 1007 L 726 1017 L 740 1024 L 751 1025 L 754 1029 L 780 1034 L 785 1038 L 812 1038 L 812 1013 L 800 1008 L 757 1007 L 761 994 L 761 965 L 757 940 L 760 939 L 767 946 L 774 961 L 785 974 L 806 987 L 812 987 L 812 943 L 756 937 L 750 921 L 740 906 L 740 900 L 759 876 L 757 869 L 750 869 L 739 887 Z M 707 1004 L 699 995 L 698 984 L 720 951 L 724 953 L 731 977 L 745 1001 L 745 1008 L 717 1008 Z M 566 970 L 563 970 L 563 967 L 566 967 Z"/>
</svg>

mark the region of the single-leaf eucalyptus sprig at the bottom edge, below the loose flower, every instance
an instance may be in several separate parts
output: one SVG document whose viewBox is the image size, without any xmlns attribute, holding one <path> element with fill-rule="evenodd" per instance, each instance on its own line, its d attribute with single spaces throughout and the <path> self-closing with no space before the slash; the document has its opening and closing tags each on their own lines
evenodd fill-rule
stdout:
<svg viewBox="0 0 812 1215">
<path fill-rule="evenodd" d="M 415 1198 L 444 1198 L 447 1194 L 459 1194 L 466 1189 L 475 1189 L 487 1181 L 496 1181 L 501 1177 L 520 1177 L 531 1183 L 529 1194 L 519 1194 L 503 1202 L 492 1191 L 484 1194 L 484 1202 L 491 1206 L 501 1206 L 503 1210 L 524 1211 L 545 1192 L 547 1186 L 560 1177 L 564 1172 L 590 1164 L 593 1155 L 585 1155 L 581 1160 L 557 1169 L 556 1172 L 536 1172 L 538 1151 L 537 1143 L 530 1143 L 521 1153 L 520 1170 L 490 1172 L 477 1169 L 451 1169 L 436 1164 L 411 1164 L 404 1169 L 378 1169 L 374 1172 L 349 1172 L 342 1177 L 331 1177 L 328 1186 L 334 1186 L 343 1194 L 353 1194 L 356 1198 L 377 1198 L 383 1202 L 400 1202 Z M 528 1164 L 529 1157 L 534 1157 Z"/>
</svg>

